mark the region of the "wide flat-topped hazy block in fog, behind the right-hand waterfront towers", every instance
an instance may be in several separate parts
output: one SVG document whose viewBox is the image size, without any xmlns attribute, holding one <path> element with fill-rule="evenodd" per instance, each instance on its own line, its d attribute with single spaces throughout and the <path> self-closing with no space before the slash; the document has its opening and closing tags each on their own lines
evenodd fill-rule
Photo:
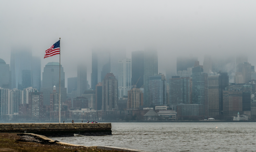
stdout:
<svg viewBox="0 0 256 152">
<path fill-rule="evenodd" d="M 185 56 L 177 57 L 177 72 L 187 70 L 187 68 L 193 67 L 194 62 L 197 60 L 198 60 L 197 57 L 185 57 Z"/>
</svg>

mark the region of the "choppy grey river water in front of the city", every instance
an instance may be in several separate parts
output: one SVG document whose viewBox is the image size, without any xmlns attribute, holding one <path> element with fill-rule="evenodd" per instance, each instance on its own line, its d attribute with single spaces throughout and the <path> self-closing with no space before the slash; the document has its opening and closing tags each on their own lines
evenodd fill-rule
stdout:
<svg viewBox="0 0 256 152">
<path fill-rule="evenodd" d="M 112 123 L 113 135 L 52 139 L 149 152 L 255 152 L 255 132 L 256 122 Z"/>
</svg>

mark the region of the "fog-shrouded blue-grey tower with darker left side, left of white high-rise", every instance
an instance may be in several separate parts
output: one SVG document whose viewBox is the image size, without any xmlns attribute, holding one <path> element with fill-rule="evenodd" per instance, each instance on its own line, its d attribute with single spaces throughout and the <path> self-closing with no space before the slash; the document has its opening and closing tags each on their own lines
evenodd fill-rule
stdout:
<svg viewBox="0 0 256 152">
<path fill-rule="evenodd" d="M 102 49 L 92 50 L 91 88 L 95 90 L 96 84 L 102 82 L 105 75 L 110 72 L 110 51 Z"/>
</svg>

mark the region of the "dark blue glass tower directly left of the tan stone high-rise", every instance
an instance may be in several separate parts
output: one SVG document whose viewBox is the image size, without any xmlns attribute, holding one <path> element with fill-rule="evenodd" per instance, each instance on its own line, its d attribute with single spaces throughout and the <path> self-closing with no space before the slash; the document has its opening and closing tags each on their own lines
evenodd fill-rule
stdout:
<svg viewBox="0 0 256 152">
<path fill-rule="evenodd" d="M 192 104 L 204 105 L 204 115 L 208 115 L 208 74 L 198 66 L 192 69 Z"/>
</svg>

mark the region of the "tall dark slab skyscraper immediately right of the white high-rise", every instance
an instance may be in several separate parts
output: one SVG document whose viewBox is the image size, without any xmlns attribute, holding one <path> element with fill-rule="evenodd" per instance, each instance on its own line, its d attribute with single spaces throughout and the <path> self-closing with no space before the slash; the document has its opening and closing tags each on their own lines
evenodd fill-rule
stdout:
<svg viewBox="0 0 256 152">
<path fill-rule="evenodd" d="M 131 84 L 137 83 L 141 88 L 144 84 L 144 51 L 134 51 L 131 53 Z"/>
</svg>

